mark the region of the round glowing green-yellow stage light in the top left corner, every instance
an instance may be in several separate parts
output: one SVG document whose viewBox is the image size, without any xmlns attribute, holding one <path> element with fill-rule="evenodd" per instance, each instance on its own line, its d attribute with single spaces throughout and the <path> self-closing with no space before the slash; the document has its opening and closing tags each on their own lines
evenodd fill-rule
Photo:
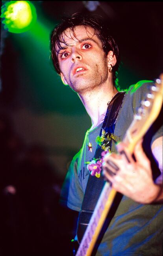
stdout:
<svg viewBox="0 0 163 256">
<path fill-rule="evenodd" d="M 30 1 L 8 1 L 2 6 L 0 17 L 6 30 L 22 33 L 30 30 L 37 19 L 37 14 Z"/>
</svg>

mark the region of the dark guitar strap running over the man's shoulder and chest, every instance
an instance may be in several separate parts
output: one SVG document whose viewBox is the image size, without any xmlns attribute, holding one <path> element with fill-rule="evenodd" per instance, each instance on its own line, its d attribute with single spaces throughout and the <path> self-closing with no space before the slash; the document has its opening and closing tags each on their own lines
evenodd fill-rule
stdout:
<svg viewBox="0 0 163 256">
<path fill-rule="evenodd" d="M 120 107 L 122 105 L 122 101 L 124 99 L 124 95 L 124 92 L 117 93 L 109 103 L 106 116 L 100 131 L 100 136 L 102 135 L 102 129 L 105 130 L 106 137 L 108 134 L 111 135 L 114 133 L 115 124 L 117 121 Z M 112 144 L 111 142 L 112 141 L 109 141 L 109 144 L 107 144 L 107 146 L 109 145 L 110 149 Z M 94 158 L 99 158 L 101 156 L 102 151 L 103 150 L 101 149 L 101 147 L 97 145 Z M 89 175 L 87 187 L 82 202 L 82 208 L 78 217 L 77 237 L 79 243 L 82 240 L 87 225 L 89 224 L 91 215 L 94 211 L 98 198 L 100 197 L 100 193 L 102 191 L 102 188 L 104 187 L 104 184 L 105 181 L 102 175 L 100 175 L 100 178 L 96 178 L 96 176 Z"/>
</svg>

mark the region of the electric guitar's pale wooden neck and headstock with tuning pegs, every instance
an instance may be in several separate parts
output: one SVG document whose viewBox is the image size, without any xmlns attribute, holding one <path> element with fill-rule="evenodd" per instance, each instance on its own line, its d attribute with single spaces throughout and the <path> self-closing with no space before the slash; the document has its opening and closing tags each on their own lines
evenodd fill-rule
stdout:
<svg viewBox="0 0 163 256">
<path fill-rule="evenodd" d="M 134 115 L 133 121 L 126 131 L 123 142 L 127 145 L 130 153 L 133 153 L 137 142 L 144 136 L 152 123 L 156 120 L 160 113 L 162 103 L 163 74 L 161 74 L 160 79 L 156 80 L 155 86 L 153 85 L 151 87 L 151 91 L 146 95 L 146 99 L 141 102 L 137 114 Z M 110 184 L 106 182 L 78 251 L 76 252 L 76 256 L 91 256 L 116 194 L 117 191 L 111 188 Z"/>
</svg>

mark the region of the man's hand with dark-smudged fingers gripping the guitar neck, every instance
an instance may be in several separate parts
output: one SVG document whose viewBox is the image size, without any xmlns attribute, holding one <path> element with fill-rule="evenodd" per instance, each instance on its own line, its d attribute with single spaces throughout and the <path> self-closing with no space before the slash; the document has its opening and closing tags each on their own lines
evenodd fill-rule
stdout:
<svg viewBox="0 0 163 256">
<path fill-rule="evenodd" d="M 119 154 L 104 157 L 103 174 L 118 192 L 136 202 L 150 204 L 161 193 L 161 186 L 152 178 L 150 161 L 146 157 L 142 141 L 134 149 L 135 160 L 124 143 L 117 145 Z"/>
</svg>

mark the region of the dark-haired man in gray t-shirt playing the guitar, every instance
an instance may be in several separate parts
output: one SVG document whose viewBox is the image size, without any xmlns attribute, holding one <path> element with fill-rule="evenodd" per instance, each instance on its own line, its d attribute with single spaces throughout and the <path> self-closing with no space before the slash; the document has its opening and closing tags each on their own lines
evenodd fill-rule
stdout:
<svg viewBox="0 0 163 256">
<path fill-rule="evenodd" d="M 119 50 L 99 18 L 83 17 L 80 13 L 63 20 L 56 27 L 52 32 L 51 44 L 57 73 L 63 83 L 78 93 L 92 121 L 83 147 L 73 158 L 67 174 L 67 206 L 80 211 L 89 174 L 95 175 L 94 178 L 98 180 L 101 172 L 100 162 L 93 160 L 97 145 L 95 140 L 100 134 L 107 105 L 118 93 L 115 80 L 119 66 Z M 136 92 L 132 93 L 135 90 Z M 112 134 L 113 141 L 122 141 L 133 120 L 135 109 L 139 107 L 146 91 L 146 84 L 140 86 L 140 83 L 137 83 L 124 96 Z M 142 142 L 137 143 L 134 149 L 135 159 L 124 143 L 120 143 L 117 149 L 114 143 L 111 147 L 111 152 L 118 150 L 124 152 L 123 154 L 106 154 L 103 158 L 103 174 L 112 187 L 124 196 L 96 255 L 156 256 L 162 253 L 162 135 L 159 121 L 156 124 L 147 134 L 146 154 L 150 159 L 143 150 Z M 145 147 L 145 140 L 143 144 Z M 156 166 L 153 170 L 150 165 L 152 158 L 158 163 L 158 173 Z M 100 193 L 98 186 L 97 193 Z"/>
</svg>

